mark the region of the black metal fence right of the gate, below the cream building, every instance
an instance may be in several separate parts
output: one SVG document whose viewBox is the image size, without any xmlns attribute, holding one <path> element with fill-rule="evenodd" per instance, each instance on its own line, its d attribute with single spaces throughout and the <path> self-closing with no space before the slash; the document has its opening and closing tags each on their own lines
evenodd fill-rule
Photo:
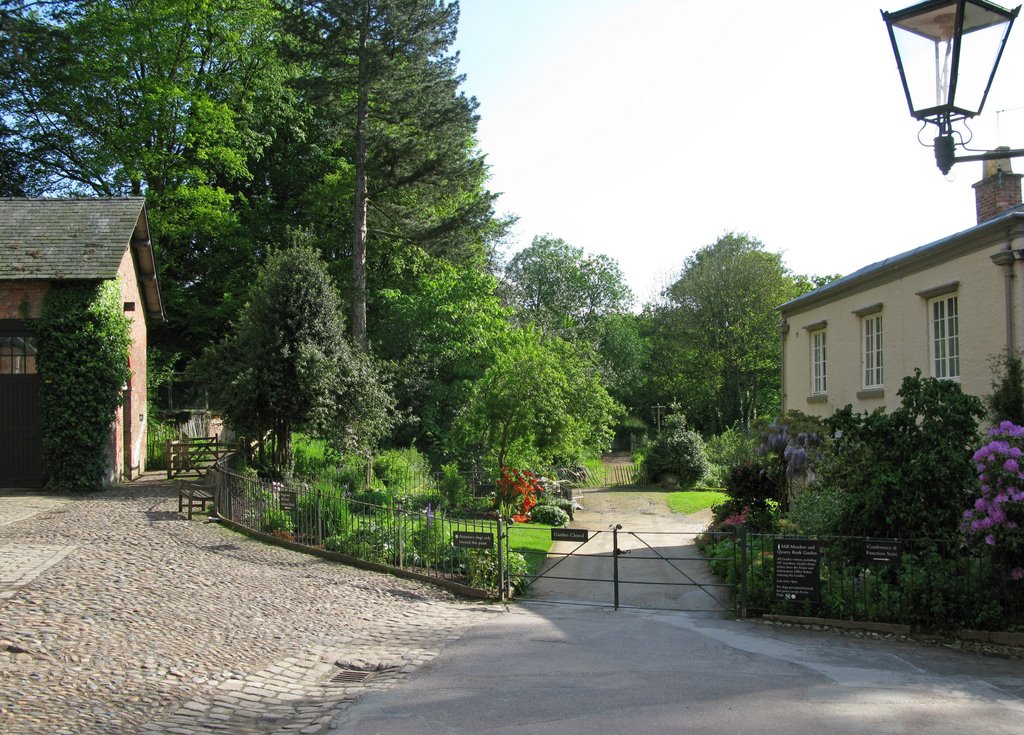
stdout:
<svg viewBox="0 0 1024 735">
<path fill-rule="evenodd" d="M 780 550 L 779 543 L 810 551 L 813 563 L 804 564 L 803 570 L 799 563 L 779 567 L 792 561 L 779 558 L 790 553 L 785 547 Z M 734 586 L 737 612 L 744 616 L 809 615 L 924 630 L 1008 630 L 1024 624 L 1024 581 L 1013 578 L 1013 561 L 1001 558 L 996 549 L 969 547 L 963 539 L 737 532 L 719 536 L 705 553 L 713 570 Z M 805 572 L 806 579 L 791 594 L 786 583 Z M 776 573 L 788 578 L 776 578 Z"/>
</svg>

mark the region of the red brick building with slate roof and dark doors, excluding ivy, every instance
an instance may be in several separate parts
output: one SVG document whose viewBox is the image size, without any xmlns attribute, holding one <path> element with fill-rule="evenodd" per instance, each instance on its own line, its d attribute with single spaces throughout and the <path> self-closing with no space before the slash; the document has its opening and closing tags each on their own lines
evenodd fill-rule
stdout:
<svg viewBox="0 0 1024 735">
<path fill-rule="evenodd" d="M 146 328 L 164 318 L 145 200 L 0 199 L 0 487 L 44 477 L 33 320 L 54 283 L 118 279 L 132 378 L 111 417 L 109 483 L 145 469 Z"/>
</svg>

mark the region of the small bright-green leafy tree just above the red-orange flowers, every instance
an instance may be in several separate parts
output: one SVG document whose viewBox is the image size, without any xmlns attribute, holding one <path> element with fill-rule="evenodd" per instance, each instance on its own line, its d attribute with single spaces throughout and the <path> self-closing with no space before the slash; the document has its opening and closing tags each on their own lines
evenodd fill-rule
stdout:
<svg viewBox="0 0 1024 735">
<path fill-rule="evenodd" d="M 611 441 L 620 406 L 570 345 L 516 331 L 473 386 L 457 430 L 498 467 L 572 464 Z"/>
</svg>

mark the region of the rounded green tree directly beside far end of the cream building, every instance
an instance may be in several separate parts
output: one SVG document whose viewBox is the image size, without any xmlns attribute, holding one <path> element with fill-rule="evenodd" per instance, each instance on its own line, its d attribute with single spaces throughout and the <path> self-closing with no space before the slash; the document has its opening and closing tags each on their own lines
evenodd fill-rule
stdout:
<svg viewBox="0 0 1024 735">
<path fill-rule="evenodd" d="M 657 398 L 705 433 L 748 425 L 778 403 L 776 307 L 808 288 L 757 239 L 727 233 L 686 259 L 654 311 Z"/>
</svg>

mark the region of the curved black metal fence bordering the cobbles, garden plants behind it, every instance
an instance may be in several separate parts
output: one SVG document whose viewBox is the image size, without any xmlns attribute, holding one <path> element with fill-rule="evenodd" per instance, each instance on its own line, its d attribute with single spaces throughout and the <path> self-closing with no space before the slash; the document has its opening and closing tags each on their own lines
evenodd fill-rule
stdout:
<svg viewBox="0 0 1024 735">
<path fill-rule="evenodd" d="M 210 470 L 216 513 L 231 525 L 435 582 L 495 594 L 502 587 L 500 549 L 482 544 L 488 535 L 501 543 L 495 520 L 456 518 L 429 506 L 372 505 L 323 485 L 286 486 L 234 472 L 232 462 Z M 480 547 L 458 544 L 466 538 Z"/>
</svg>

